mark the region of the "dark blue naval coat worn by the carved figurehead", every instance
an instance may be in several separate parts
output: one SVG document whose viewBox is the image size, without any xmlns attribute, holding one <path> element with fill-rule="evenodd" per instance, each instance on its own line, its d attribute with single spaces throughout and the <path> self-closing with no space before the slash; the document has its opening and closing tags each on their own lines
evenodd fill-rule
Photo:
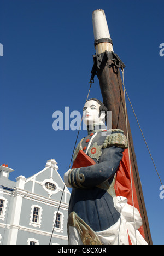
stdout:
<svg viewBox="0 0 164 256">
<path fill-rule="evenodd" d="M 106 230 L 120 218 L 120 213 L 114 207 L 113 197 L 101 185 L 106 182 L 110 187 L 122 159 L 124 147 L 116 146 L 115 143 L 112 146 L 113 144 L 110 143 L 110 146 L 104 148 L 103 143 L 106 139 L 106 136 L 102 136 L 104 129 L 106 127 L 101 127 L 96 131 L 95 127 L 95 130 L 89 132 L 89 135 L 78 144 L 75 150 L 75 156 L 80 149 L 86 152 L 92 136 L 97 132 L 87 151 L 87 155 L 96 164 L 71 169 L 68 174 L 68 182 L 73 188 L 69 202 L 69 214 L 77 213 L 94 231 Z M 123 133 L 119 129 L 114 129 L 111 135 L 118 132 Z"/>
</svg>

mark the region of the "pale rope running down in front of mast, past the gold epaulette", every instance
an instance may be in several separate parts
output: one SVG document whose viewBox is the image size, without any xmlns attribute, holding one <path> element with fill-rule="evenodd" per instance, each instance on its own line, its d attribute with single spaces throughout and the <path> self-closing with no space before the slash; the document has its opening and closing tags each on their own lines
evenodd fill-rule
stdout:
<svg viewBox="0 0 164 256">
<path fill-rule="evenodd" d="M 134 214 L 134 196 L 133 196 L 132 170 L 131 170 L 131 159 L 130 159 L 130 144 L 129 144 L 129 137 L 128 137 L 127 110 L 126 110 L 126 99 L 125 99 L 124 68 L 121 68 L 121 71 L 122 71 L 122 80 L 123 80 L 122 85 L 123 85 L 123 89 L 124 89 L 126 133 L 127 133 L 127 144 L 128 144 L 128 160 L 129 160 L 129 165 L 130 165 L 130 178 L 131 178 L 132 204 L 133 204 L 133 222 L 134 222 L 135 240 L 136 240 L 136 245 L 137 245 L 136 219 L 135 219 L 135 214 Z"/>
</svg>

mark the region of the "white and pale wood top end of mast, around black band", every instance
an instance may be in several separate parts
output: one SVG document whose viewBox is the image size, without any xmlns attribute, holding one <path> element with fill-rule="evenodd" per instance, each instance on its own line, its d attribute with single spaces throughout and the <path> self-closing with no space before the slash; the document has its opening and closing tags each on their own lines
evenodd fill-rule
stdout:
<svg viewBox="0 0 164 256">
<path fill-rule="evenodd" d="M 92 21 L 95 40 L 103 38 L 111 40 L 104 11 L 101 9 L 93 11 Z M 101 42 L 96 45 L 95 49 L 97 54 L 101 54 L 104 51 L 113 51 L 113 45 L 110 42 Z"/>
</svg>

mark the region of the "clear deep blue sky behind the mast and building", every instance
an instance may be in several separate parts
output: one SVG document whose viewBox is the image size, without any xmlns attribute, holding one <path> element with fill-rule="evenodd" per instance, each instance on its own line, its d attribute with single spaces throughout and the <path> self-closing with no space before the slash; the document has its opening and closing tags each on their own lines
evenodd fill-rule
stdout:
<svg viewBox="0 0 164 256">
<path fill-rule="evenodd" d="M 114 51 L 125 63 L 125 87 L 151 154 L 163 174 L 163 0 L 0 1 L 1 162 L 10 179 L 42 170 L 48 159 L 58 172 L 69 167 L 77 131 L 54 131 L 52 114 L 81 112 L 93 66 L 92 11 L 106 13 Z M 90 97 L 102 100 L 98 79 Z M 160 181 L 127 102 L 134 148 L 154 245 L 164 245 Z M 79 139 L 86 136 L 80 131 Z M 79 140 L 78 139 L 78 140 Z"/>
</svg>

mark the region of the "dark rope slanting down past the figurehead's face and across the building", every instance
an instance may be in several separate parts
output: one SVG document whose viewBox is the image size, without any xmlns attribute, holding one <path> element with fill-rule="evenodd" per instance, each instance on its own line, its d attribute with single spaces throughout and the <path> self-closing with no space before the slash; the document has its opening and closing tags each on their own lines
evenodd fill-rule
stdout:
<svg viewBox="0 0 164 256">
<path fill-rule="evenodd" d="M 92 79 L 92 78 L 91 78 L 89 83 L 90 83 L 90 88 L 89 88 L 89 92 L 88 92 L 87 97 L 86 97 L 86 101 L 87 101 L 87 100 L 88 100 L 88 98 L 89 98 L 89 94 L 90 94 L 90 90 L 91 90 L 91 85 L 92 85 L 92 83 L 94 83 L 94 79 Z M 78 130 L 78 135 L 77 135 L 77 138 L 76 138 L 76 141 L 75 141 L 75 144 L 74 144 L 74 149 L 73 149 L 73 153 L 72 153 L 72 157 L 71 157 L 71 161 L 70 161 L 70 164 L 69 164 L 69 168 L 68 168 L 68 170 L 69 170 L 69 169 L 70 169 L 70 167 L 71 167 L 71 162 L 72 162 L 72 158 L 73 158 L 73 154 L 74 154 L 75 146 L 76 146 L 76 144 L 77 144 L 77 140 L 78 140 L 79 131 L 80 131 L 80 127 L 81 127 L 81 123 L 82 123 L 82 121 L 83 121 L 83 115 L 82 115 L 82 118 L 81 118 L 81 122 L 80 122 L 79 130 Z M 59 212 L 59 209 L 60 209 L 60 205 L 61 205 L 61 201 L 62 201 L 63 193 L 64 193 L 64 191 L 65 191 L 65 187 L 66 187 L 66 184 L 65 184 L 65 185 L 64 185 L 64 187 L 63 187 L 63 191 L 62 191 L 62 195 L 61 195 L 61 200 L 60 200 L 60 203 L 59 203 L 59 205 L 58 205 L 58 210 L 57 210 L 57 213 L 56 213 L 56 219 L 55 219 L 55 223 L 54 223 L 54 226 L 53 226 L 53 229 L 52 229 L 52 233 L 51 233 L 51 238 L 50 238 L 49 245 L 51 244 L 52 235 L 53 235 L 53 233 L 54 233 L 54 229 L 55 229 L 55 225 L 56 225 L 56 220 L 57 220 L 57 217 L 58 217 L 58 212 Z"/>
</svg>

